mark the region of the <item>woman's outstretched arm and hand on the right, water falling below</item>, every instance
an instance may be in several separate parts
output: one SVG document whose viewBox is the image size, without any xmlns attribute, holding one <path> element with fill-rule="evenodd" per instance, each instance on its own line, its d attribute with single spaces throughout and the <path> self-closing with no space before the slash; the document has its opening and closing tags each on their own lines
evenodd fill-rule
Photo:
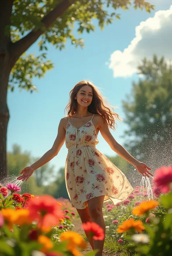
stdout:
<svg viewBox="0 0 172 256">
<path fill-rule="evenodd" d="M 104 121 L 103 117 L 99 116 L 99 130 L 105 139 L 105 141 L 108 143 L 108 145 L 111 147 L 112 150 L 114 150 L 118 155 L 120 155 L 122 158 L 124 158 L 127 162 L 131 163 L 133 166 L 137 168 L 137 170 L 143 175 L 149 177 L 149 175 L 153 176 L 151 172 L 148 170 L 151 170 L 150 167 L 148 167 L 145 163 L 139 162 L 137 159 L 132 157 L 126 149 L 122 145 L 120 145 L 112 136 L 109 127 L 107 125 L 107 122 Z M 104 123 L 105 122 L 105 123 Z M 147 170 L 148 169 L 148 170 Z"/>
</svg>

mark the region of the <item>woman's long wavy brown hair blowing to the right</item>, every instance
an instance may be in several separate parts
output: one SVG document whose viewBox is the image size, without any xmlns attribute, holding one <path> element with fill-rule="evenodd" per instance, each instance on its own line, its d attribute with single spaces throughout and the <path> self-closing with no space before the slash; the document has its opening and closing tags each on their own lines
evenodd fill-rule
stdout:
<svg viewBox="0 0 172 256">
<path fill-rule="evenodd" d="M 74 113 L 77 112 L 78 103 L 74 97 L 78 93 L 79 89 L 84 85 L 89 85 L 93 89 L 93 100 L 91 104 L 88 106 L 88 111 L 93 114 L 102 115 L 105 122 L 107 122 L 108 126 L 112 130 L 115 130 L 115 119 L 119 122 L 123 121 L 123 119 L 121 119 L 119 115 L 114 112 L 114 107 L 112 107 L 108 103 L 107 99 L 101 95 L 100 90 L 98 90 L 98 87 L 95 86 L 91 81 L 81 81 L 77 83 L 74 86 L 74 88 L 70 91 L 70 100 L 67 106 L 65 107 L 65 110 L 67 110 L 67 117 L 72 116 Z"/>
</svg>

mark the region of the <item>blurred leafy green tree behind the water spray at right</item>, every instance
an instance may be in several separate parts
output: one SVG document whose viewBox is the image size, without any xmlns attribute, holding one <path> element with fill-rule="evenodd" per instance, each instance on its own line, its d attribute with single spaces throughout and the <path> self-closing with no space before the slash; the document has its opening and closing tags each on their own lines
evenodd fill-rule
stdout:
<svg viewBox="0 0 172 256">
<path fill-rule="evenodd" d="M 138 67 L 143 75 L 133 83 L 132 92 L 123 101 L 129 125 L 125 132 L 125 147 L 132 155 L 147 164 L 159 167 L 170 164 L 168 153 L 172 150 L 172 65 L 164 58 L 146 58 Z M 123 137 L 124 137 L 123 136 Z"/>
</svg>

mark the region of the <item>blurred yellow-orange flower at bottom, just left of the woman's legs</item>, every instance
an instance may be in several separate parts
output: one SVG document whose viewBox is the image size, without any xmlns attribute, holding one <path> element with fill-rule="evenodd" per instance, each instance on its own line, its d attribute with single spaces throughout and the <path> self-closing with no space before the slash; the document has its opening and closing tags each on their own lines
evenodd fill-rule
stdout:
<svg viewBox="0 0 172 256">
<path fill-rule="evenodd" d="M 87 244 L 83 240 L 83 237 L 73 231 L 67 231 L 67 232 L 61 233 L 60 240 L 68 241 L 67 249 L 71 252 L 74 249 L 76 249 L 77 246 L 80 248 L 83 248 L 83 249 L 85 249 L 87 247 Z"/>
</svg>

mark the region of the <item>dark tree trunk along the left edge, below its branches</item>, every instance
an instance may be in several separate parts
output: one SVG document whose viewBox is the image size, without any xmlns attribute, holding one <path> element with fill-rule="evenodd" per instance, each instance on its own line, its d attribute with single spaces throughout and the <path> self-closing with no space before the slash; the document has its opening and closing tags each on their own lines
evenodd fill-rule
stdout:
<svg viewBox="0 0 172 256">
<path fill-rule="evenodd" d="M 7 168 L 7 126 L 9 110 L 7 106 L 7 88 L 9 73 L 5 70 L 4 58 L 0 56 L 0 182 L 8 176 Z M 6 66 L 7 67 L 7 66 Z"/>
</svg>

